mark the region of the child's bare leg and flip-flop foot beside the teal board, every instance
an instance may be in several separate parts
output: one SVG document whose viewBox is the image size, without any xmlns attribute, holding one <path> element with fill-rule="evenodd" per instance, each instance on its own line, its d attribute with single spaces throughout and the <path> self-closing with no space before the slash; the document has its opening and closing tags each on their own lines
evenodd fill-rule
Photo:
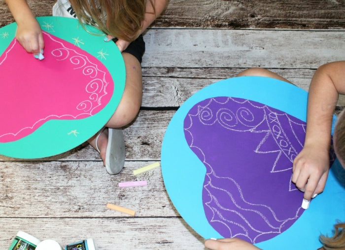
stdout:
<svg viewBox="0 0 345 250">
<path fill-rule="evenodd" d="M 109 121 L 105 124 L 108 128 L 121 128 L 135 119 L 141 106 L 142 99 L 142 78 L 141 66 L 138 59 L 129 54 L 122 53 L 126 67 L 126 85 L 121 101 L 111 116 Z M 88 140 L 88 142 L 96 148 L 96 135 Z M 105 129 L 98 140 L 98 148 L 105 166 L 105 151 L 108 144 L 108 131 Z"/>
</svg>

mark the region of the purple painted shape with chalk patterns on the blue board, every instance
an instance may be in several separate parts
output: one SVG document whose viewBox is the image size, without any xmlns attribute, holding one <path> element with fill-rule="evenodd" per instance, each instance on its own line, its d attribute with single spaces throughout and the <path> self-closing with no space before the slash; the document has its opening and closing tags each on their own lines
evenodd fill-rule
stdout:
<svg viewBox="0 0 345 250">
<path fill-rule="evenodd" d="M 305 131 L 305 122 L 241 98 L 209 98 L 188 112 L 185 138 L 206 167 L 205 215 L 223 237 L 258 243 L 302 215 L 291 177 Z"/>
</svg>

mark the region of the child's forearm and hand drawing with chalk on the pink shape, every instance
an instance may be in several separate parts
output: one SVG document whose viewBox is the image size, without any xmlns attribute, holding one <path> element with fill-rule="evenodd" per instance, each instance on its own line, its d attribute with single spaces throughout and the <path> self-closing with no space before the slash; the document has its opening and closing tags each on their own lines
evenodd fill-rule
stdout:
<svg viewBox="0 0 345 250">
<path fill-rule="evenodd" d="M 29 53 L 38 55 L 44 49 L 42 30 L 26 0 L 5 0 L 18 28 L 16 38 Z"/>
</svg>

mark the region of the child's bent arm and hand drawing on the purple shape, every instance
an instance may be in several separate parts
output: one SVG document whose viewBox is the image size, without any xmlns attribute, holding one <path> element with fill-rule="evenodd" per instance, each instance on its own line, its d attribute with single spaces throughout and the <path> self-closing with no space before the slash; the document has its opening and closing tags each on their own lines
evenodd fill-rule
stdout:
<svg viewBox="0 0 345 250">
<path fill-rule="evenodd" d="M 292 182 L 305 192 L 307 200 L 321 193 L 326 184 L 332 117 L 339 93 L 345 93 L 345 61 L 319 67 L 309 89 L 304 147 L 293 162 Z"/>
</svg>

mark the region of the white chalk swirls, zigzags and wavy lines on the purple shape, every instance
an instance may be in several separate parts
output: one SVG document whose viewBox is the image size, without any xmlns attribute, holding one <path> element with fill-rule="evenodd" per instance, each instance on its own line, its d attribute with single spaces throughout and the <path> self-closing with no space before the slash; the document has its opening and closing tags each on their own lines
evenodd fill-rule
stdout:
<svg viewBox="0 0 345 250">
<path fill-rule="evenodd" d="M 218 111 L 216 112 L 212 112 L 211 109 L 208 108 L 208 106 L 212 103 L 212 102 L 217 102 L 217 103 L 220 103 L 220 104 L 226 104 L 228 101 L 235 101 L 237 103 L 240 103 L 240 104 L 244 104 L 244 103 L 249 103 L 251 106 L 255 107 L 255 108 L 258 108 L 258 109 L 263 109 L 264 110 L 264 118 L 260 121 L 259 119 L 259 123 L 256 122 L 256 125 L 250 125 L 250 124 L 247 124 L 246 122 L 251 122 L 251 121 L 254 121 L 255 120 L 255 117 L 254 115 L 248 110 L 246 109 L 245 107 L 242 107 L 243 109 L 241 109 L 241 107 L 237 110 L 237 112 L 233 112 L 229 109 L 219 109 Z M 228 114 L 229 116 L 227 117 L 227 121 L 231 121 L 232 124 L 228 126 L 228 124 L 224 125 L 224 123 L 222 122 L 223 120 L 219 119 L 220 115 L 218 115 L 218 112 L 220 112 L 223 114 L 224 112 L 227 112 L 226 114 Z M 271 113 L 268 113 L 268 111 L 270 111 Z M 244 117 L 242 114 L 242 112 L 245 112 L 244 114 L 247 115 L 246 117 Z M 242 235 L 242 236 L 245 236 L 245 237 L 249 237 L 249 233 L 248 233 L 248 230 L 247 228 L 250 228 L 251 230 L 255 231 L 255 232 L 258 232 L 258 235 L 256 235 L 253 239 L 251 238 L 248 238 L 252 243 L 255 243 L 255 241 L 257 240 L 258 237 L 262 236 L 262 235 L 265 235 L 265 234 L 269 234 L 269 233 L 275 233 L 275 234 L 278 234 L 278 233 L 281 233 L 281 228 L 284 226 L 284 224 L 286 224 L 287 222 L 289 221 L 294 221 L 298 218 L 298 214 L 300 212 L 300 209 L 301 208 L 298 208 L 297 211 L 295 212 L 295 216 L 293 217 L 290 217 L 290 218 L 285 218 L 283 220 L 279 220 L 277 217 L 276 217 L 276 213 L 275 211 L 270 207 L 270 206 L 267 206 L 265 204 L 254 204 L 254 203 L 250 203 L 250 202 L 247 202 L 244 198 L 244 195 L 242 193 L 242 189 L 240 187 L 240 185 L 234 180 L 232 179 L 231 177 L 223 177 L 223 176 L 217 176 L 214 172 L 214 169 L 213 167 L 207 162 L 207 159 L 206 159 L 206 155 L 205 153 L 203 152 L 203 150 L 194 145 L 194 136 L 193 136 L 193 133 L 191 132 L 191 128 L 193 127 L 193 117 L 197 118 L 197 120 L 204 124 L 204 125 L 207 125 L 207 126 L 210 126 L 210 125 L 213 125 L 215 124 L 216 122 L 218 122 L 223 128 L 225 129 L 230 129 L 230 130 L 233 130 L 233 131 L 239 131 L 239 132 L 246 132 L 246 131 L 250 131 L 252 133 L 265 133 L 265 136 L 263 137 L 263 139 L 258 143 L 258 146 L 256 147 L 256 150 L 254 150 L 255 153 L 274 153 L 274 152 L 277 152 L 277 157 L 276 157 L 276 161 L 275 163 L 273 164 L 273 168 L 272 168 L 272 171 L 271 172 L 281 172 L 281 171 L 287 171 L 287 170 L 290 170 L 291 167 L 288 167 L 286 169 L 281 169 L 281 170 L 275 170 L 275 166 L 276 166 L 276 163 L 277 161 L 279 160 L 280 156 L 281 155 L 285 155 L 289 160 L 290 162 L 292 161 L 291 160 L 291 157 L 289 157 L 289 154 L 286 154 L 286 152 L 283 151 L 283 147 L 279 144 L 279 141 L 277 140 L 277 137 L 275 138 L 274 136 L 274 130 L 272 129 L 272 127 L 270 126 L 269 124 L 269 115 L 272 114 L 272 110 L 270 110 L 270 108 L 266 105 L 262 105 L 262 106 L 258 106 L 258 105 L 254 105 L 253 103 L 250 102 L 250 100 L 244 100 L 244 101 L 237 101 L 233 98 L 228 98 L 227 101 L 222 101 L 222 102 L 218 102 L 217 100 L 215 100 L 214 98 L 210 98 L 208 100 L 208 103 L 206 105 L 198 105 L 197 106 L 197 111 L 196 113 L 192 114 L 192 113 L 188 113 L 188 119 L 189 119 L 189 123 L 186 124 L 185 122 L 185 128 L 184 128 L 184 131 L 185 133 L 187 133 L 189 136 L 190 136 L 190 141 L 189 141 L 189 147 L 196 153 L 199 152 L 199 153 L 196 153 L 198 155 L 198 157 L 200 158 L 200 160 L 203 162 L 203 164 L 205 166 L 208 166 L 207 169 L 209 169 L 209 172 L 207 172 L 206 174 L 206 177 L 208 178 L 208 181 L 206 181 L 205 179 L 205 183 L 204 183 L 204 190 L 207 191 L 208 193 L 208 197 L 209 197 L 209 200 L 208 201 L 204 201 L 204 204 L 211 210 L 211 213 L 212 213 L 212 216 L 211 216 L 211 219 L 210 221 L 211 222 L 217 222 L 217 223 L 221 223 L 223 224 L 230 232 L 230 235 L 231 237 L 236 237 L 236 236 L 239 236 L 239 235 Z M 216 115 L 214 115 L 214 113 L 216 113 Z M 236 115 L 235 115 L 236 113 Z M 241 114 L 241 115 L 240 115 Z M 275 113 L 276 114 L 276 113 Z M 250 116 L 251 115 L 251 116 Z M 292 125 L 291 125 L 291 120 L 289 119 L 289 117 L 284 114 L 288 120 L 289 120 L 289 124 L 290 124 L 290 128 L 292 128 Z M 186 118 L 187 118 L 186 117 Z M 240 118 L 243 118 L 243 120 L 241 120 Z M 237 120 L 234 120 L 234 118 L 237 118 Z M 247 119 L 245 119 L 247 118 Z M 264 121 L 267 122 L 267 125 L 269 127 L 269 129 L 267 130 L 256 130 L 258 129 L 263 123 Z M 248 129 L 236 129 L 234 128 L 235 125 L 240 122 L 242 125 L 248 127 Z M 233 125 L 235 124 L 235 125 Z M 297 124 L 297 123 L 295 123 Z M 303 124 L 297 124 L 297 125 L 303 125 Z M 285 132 L 283 131 L 282 127 L 281 127 L 281 124 L 278 123 L 278 128 L 280 128 L 280 132 L 281 134 L 283 135 L 283 139 L 286 139 L 287 140 L 287 145 L 291 145 L 291 141 L 288 139 L 287 135 L 285 134 Z M 305 127 L 303 127 L 305 129 Z M 294 131 L 292 129 L 292 131 Z M 295 132 L 293 132 L 293 135 L 294 137 L 298 140 L 298 142 L 301 144 L 300 140 L 298 139 L 297 135 L 295 134 Z M 280 134 L 279 134 L 280 136 Z M 272 137 L 276 144 L 278 145 L 278 149 L 275 149 L 275 150 L 266 150 L 266 151 L 260 151 L 260 147 L 264 144 L 264 142 L 266 142 L 266 140 L 269 138 L 269 137 Z M 282 142 L 282 141 L 280 141 Z M 301 144 L 302 145 L 302 144 Z M 296 149 L 292 147 L 292 149 L 289 148 L 289 153 L 296 153 Z M 216 178 L 219 178 L 219 179 L 228 179 L 229 181 L 231 181 L 234 186 L 236 188 L 232 189 L 232 192 L 236 191 L 238 192 L 239 196 L 241 197 L 241 202 L 243 202 L 243 204 L 239 204 L 235 198 L 233 197 L 233 194 L 230 193 L 228 190 L 225 190 L 225 189 L 222 189 L 220 187 L 216 187 L 214 186 L 212 183 L 211 183 L 211 178 L 210 178 L 210 175 L 213 175 L 214 177 Z M 290 191 L 293 191 L 293 190 L 296 190 L 296 189 L 292 189 L 291 188 L 291 178 L 290 178 Z M 222 192 L 225 192 L 227 194 L 227 197 L 229 197 L 229 199 L 232 201 L 232 203 L 234 204 L 234 206 L 239 209 L 239 210 L 234 210 L 234 209 L 230 209 L 230 208 L 226 208 L 224 206 L 222 206 L 217 198 L 212 194 L 212 192 L 210 191 L 210 188 L 211 189 L 216 189 L 216 190 L 220 190 Z M 216 206 L 213 206 L 211 205 L 211 203 L 215 203 Z M 261 208 L 264 208 L 266 210 L 266 215 L 264 215 L 262 212 L 260 212 L 259 210 L 257 209 L 254 209 L 254 208 L 245 208 L 243 207 L 243 205 L 249 205 L 250 207 L 261 207 Z M 233 221 L 230 221 L 226 218 L 224 218 L 223 214 L 221 213 L 221 211 L 228 211 L 228 212 L 231 212 L 231 213 L 234 213 L 236 214 L 238 217 L 240 217 L 242 219 L 242 222 L 244 223 L 239 223 L 239 222 L 236 222 L 234 223 Z M 261 231 L 257 228 L 255 228 L 249 221 L 246 220 L 245 216 L 242 214 L 242 212 L 240 211 L 243 211 L 243 212 L 250 212 L 250 213 L 255 213 L 257 214 L 258 216 L 260 216 L 263 221 L 269 226 L 272 228 L 271 231 Z M 267 211 L 269 211 L 268 214 L 270 214 L 273 218 L 274 218 L 274 221 L 278 222 L 278 226 L 275 226 L 271 223 L 271 221 L 267 218 Z M 219 219 L 217 219 L 217 217 Z M 272 220 L 272 218 L 271 218 Z M 232 229 L 230 228 L 229 226 L 229 223 L 230 224 L 236 224 L 236 226 L 242 228 L 242 233 L 241 232 L 236 232 L 236 233 L 233 233 L 232 232 Z"/>
</svg>

